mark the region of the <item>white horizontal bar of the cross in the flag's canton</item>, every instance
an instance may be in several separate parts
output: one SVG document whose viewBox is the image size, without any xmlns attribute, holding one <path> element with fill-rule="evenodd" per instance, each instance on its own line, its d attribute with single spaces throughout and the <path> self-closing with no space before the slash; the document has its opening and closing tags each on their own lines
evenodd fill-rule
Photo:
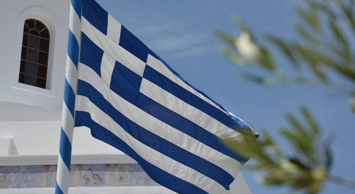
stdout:
<svg viewBox="0 0 355 194">
<path fill-rule="evenodd" d="M 85 17 L 81 17 L 81 31 L 84 32 L 97 47 L 106 52 L 114 60 L 125 65 L 134 73 L 143 76 L 145 63 L 97 30 Z"/>
</svg>

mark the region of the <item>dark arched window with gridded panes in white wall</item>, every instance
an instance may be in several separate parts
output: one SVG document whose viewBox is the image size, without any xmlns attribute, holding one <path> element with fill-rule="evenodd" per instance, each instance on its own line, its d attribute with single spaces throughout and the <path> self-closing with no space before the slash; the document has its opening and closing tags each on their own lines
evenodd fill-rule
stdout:
<svg viewBox="0 0 355 194">
<path fill-rule="evenodd" d="M 49 39 L 48 28 L 42 22 L 25 21 L 18 82 L 46 88 Z"/>
</svg>

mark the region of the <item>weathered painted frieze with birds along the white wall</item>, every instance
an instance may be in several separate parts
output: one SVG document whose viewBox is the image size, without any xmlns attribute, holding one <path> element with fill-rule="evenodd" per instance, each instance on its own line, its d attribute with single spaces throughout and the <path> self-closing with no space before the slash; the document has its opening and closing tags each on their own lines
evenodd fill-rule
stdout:
<svg viewBox="0 0 355 194">
<path fill-rule="evenodd" d="M 56 165 L 0 166 L 0 189 L 55 187 L 56 172 Z M 70 165 L 69 187 L 117 186 L 159 184 L 139 164 Z"/>
</svg>

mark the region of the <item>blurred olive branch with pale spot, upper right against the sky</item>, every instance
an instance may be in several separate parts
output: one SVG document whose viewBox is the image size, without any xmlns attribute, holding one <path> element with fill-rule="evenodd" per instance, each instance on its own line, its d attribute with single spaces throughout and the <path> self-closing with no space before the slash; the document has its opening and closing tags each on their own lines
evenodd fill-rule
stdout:
<svg viewBox="0 0 355 194">
<path fill-rule="evenodd" d="M 237 17 L 239 36 L 215 31 L 228 46 L 221 52 L 236 65 L 257 66 L 271 75 L 264 77 L 244 71 L 242 76 L 250 81 L 265 85 L 325 86 L 350 94 L 351 108 L 355 111 L 355 0 L 307 0 L 297 14 L 300 21 L 295 24 L 295 31 L 301 40 L 288 41 L 266 34 L 265 40 L 274 47 L 265 46 Z M 294 71 L 281 68 L 273 48 L 284 54 Z M 310 71 L 305 73 L 305 69 Z M 344 79 L 334 81 L 331 71 Z"/>
</svg>

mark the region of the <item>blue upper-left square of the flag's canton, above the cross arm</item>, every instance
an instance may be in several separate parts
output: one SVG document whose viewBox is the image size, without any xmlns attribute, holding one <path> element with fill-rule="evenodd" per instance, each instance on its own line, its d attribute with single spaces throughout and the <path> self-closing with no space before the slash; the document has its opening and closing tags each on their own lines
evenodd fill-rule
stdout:
<svg viewBox="0 0 355 194">
<path fill-rule="evenodd" d="M 95 0 L 84 0 L 82 3 L 82 16 L 85 17 L 91 25 L 107 35 L 107 24 L 109 14 L 97 4 Z"/>
</svg>

